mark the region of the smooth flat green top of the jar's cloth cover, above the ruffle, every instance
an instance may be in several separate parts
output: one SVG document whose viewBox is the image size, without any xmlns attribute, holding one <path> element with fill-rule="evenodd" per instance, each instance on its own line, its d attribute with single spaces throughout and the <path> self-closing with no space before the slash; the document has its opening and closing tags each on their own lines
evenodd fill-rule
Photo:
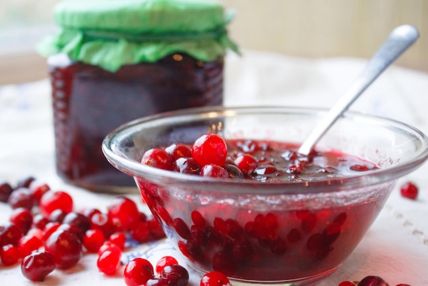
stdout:
<svg viewBox="0 0 428 286">
<path fill-rule="evenodd" d="M 62 1 L 55 6 L 54 18 L 68 29 L 201 33 L 224 26 L 224 8 L 209 1 Z"/>
</svg>

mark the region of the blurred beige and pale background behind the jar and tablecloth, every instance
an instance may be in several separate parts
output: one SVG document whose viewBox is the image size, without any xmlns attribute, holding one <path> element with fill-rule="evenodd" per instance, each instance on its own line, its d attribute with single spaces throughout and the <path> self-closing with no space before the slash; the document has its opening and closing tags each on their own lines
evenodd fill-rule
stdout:
<svg viewBox="0 0 428 286">
<path fill-rule="evenodd" d="M 428 72 L 426 0 L 216 0 L 237 12 L 230 36 L 243 49 L 303 57 L 370 57 L 398 25 L 420 39 L 397 64 Z M 55 30 L 58 0 L 0 1 L 0 84 L 46 77 L 34 44 Z"/>
</svg>

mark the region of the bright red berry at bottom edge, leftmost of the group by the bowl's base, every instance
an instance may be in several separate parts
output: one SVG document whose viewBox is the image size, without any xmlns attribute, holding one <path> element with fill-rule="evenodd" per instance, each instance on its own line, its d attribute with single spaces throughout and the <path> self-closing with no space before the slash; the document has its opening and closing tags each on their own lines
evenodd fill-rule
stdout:
<svg viewBox="0 0 428 286">
<path fill-rule="evenodd" d="M 154 276 L 153 266 L 144 258 L 135 258 L 126 264 L 123 276 L 128 286 L 146 285 Z"/>
</svg>

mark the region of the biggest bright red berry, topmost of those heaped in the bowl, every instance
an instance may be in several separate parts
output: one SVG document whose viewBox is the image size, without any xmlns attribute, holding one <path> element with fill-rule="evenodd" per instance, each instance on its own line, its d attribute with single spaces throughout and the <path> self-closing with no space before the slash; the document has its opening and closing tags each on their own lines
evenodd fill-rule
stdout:
<svg viewBox="0 0 428 286">
<path fill-rule="evenodd" d="M 226 142 L 217 134 L 209 133 L 200 136 L 191 148 L 191 155 L 200 166 L 215 164 L 224 166 L 228 149 Z"/>
</svg>

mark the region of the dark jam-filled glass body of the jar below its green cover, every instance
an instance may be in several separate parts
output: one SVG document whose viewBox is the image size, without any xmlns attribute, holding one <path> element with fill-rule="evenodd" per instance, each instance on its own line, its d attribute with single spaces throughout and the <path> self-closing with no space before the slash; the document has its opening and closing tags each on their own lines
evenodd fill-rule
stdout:
<svg viewBox="0 0 428 286">
<path fill-rule="evenodd" d="M 174 54 L 111 73 L 81 62 L 64 64 L 63 55 L 56 57 L 49 59 L 49 68 L 57 173 L 90 190 L 135 185 L 101 151 L 111 130 L 143 116 L 223 101 L 223 58 L 202 62 Z"/>
</svg>

